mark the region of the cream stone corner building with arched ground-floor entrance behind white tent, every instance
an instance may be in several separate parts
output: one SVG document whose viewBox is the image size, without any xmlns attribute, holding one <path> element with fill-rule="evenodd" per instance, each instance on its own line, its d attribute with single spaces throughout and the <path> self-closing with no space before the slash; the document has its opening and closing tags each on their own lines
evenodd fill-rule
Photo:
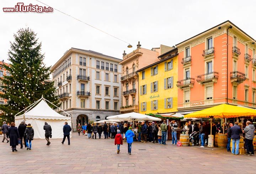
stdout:
<svg viewBox="0 0 256 174">
<path fill-rule="evenodd" d="M 121 107 L 121 59 L 91 50 L 71 48 L 52 66 L 52 80 L 61 108 L 78 123 L 105 120 Z M 61 114 L 64 112 L 58 110 Z"/>
</svg>

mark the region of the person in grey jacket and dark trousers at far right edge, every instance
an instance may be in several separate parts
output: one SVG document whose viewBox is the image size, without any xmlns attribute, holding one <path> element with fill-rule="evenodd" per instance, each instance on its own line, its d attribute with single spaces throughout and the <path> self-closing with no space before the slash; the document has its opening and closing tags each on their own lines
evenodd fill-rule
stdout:
<svg viewBox="0 0 256 174">
<path fill-rule="evenodd" d="M 251 124 L 251 121 L 246 121 L 245 133 L 245 149 L 248 156 L 254 156 L 253 138 L 254 138 L 255 127 Z"/>
</svg>

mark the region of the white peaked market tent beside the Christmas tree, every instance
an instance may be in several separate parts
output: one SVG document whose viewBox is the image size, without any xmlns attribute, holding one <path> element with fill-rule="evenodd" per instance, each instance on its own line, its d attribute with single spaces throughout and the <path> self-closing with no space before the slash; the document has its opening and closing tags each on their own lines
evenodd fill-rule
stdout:
<svg viewBox="0 0 256 174">
<path fill-rule="evenodd" d="M 52 127 L 52 138 L 63 138 L 64 123 L 68 122 L 71 126 L 71 115 L 68 113 L 66 114 L 69 116 L 60 115 L 50 108 L 46 101 L 49 102 L 42 97 L 25 108 L 27 111 L 24 114 L 15 116 L 15 124 L 18 127 L 21 121 L 26 120 L 26 124 L 30 123 L 33 126 L 34 138 L 44 139 L 45 131 L 43 130 L 43 126 L 44 122 L 47 122 Z"/>
</svg>

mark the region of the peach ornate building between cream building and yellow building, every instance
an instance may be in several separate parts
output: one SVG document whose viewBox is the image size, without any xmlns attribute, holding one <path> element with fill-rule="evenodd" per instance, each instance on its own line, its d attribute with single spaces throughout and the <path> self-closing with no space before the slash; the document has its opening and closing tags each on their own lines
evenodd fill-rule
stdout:
<svg viewBox="0 0 256 174">
<path fill-rule="evenodd" d="M 119 62 L 122 65 L 122 107 L 121 113 L 139 112 L 139 80 L 137 72 L 139 69 L 158 61 L 161 51 L 169 51 L 171 47 L 161 45 L 160 48 L 151 50 L 141 48 L 140 43 L 137 49 L 129 54 L 123 53 L 123 60 Z"/>
</svg>

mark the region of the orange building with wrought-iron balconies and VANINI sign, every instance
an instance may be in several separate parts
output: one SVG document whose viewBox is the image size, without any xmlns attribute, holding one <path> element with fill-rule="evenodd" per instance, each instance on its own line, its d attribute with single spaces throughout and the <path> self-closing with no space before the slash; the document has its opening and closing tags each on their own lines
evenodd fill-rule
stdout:
<svg viewBox="0 0 256 174">
<path fill-rule="evenodd" d="M 256 43 L 230 21 L 193 36 L 178 48 L 178 111 L 222 103 L 256 108 Z"/>
</svg>

